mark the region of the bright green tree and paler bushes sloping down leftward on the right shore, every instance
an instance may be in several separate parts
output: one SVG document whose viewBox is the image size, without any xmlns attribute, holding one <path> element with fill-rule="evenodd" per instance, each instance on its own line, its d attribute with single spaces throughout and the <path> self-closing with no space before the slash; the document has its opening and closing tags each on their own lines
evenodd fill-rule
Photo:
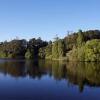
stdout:
<svg viewBox="0 0 100 100">
<path fill-rule="evenodd" d="M 69 60 L 100 61 L 100 40 L 87 41 L 82 47 L 70 51 L 67 56 Z"/>
</svg>

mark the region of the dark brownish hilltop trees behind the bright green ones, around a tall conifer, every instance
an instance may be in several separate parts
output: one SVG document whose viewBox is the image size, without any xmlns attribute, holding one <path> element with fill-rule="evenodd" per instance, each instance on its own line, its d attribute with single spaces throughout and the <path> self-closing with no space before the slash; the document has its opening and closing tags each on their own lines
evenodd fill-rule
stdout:
<svg viewBox="0 0 100 100">
<path fill-rule="evenodd" d="M 72 50 L 73 47 L 77 47 L 77 44 L 79 43 L 78 41 L 80 41 L 80 40 L 78 40 L 78 36 L 79 36 L 79 33 L 81 33 L 81 32 L 84 37 L 82 39 L 83 43 L 87 42 L 89 40 L 92 40 L 92 39 L 100 39 L 100 31 L 99 30 L 89 30 L 89 31 L 79 30 L 78 32 L 71 33 L 64 38 L 66 52 Z"/>
</svg>

